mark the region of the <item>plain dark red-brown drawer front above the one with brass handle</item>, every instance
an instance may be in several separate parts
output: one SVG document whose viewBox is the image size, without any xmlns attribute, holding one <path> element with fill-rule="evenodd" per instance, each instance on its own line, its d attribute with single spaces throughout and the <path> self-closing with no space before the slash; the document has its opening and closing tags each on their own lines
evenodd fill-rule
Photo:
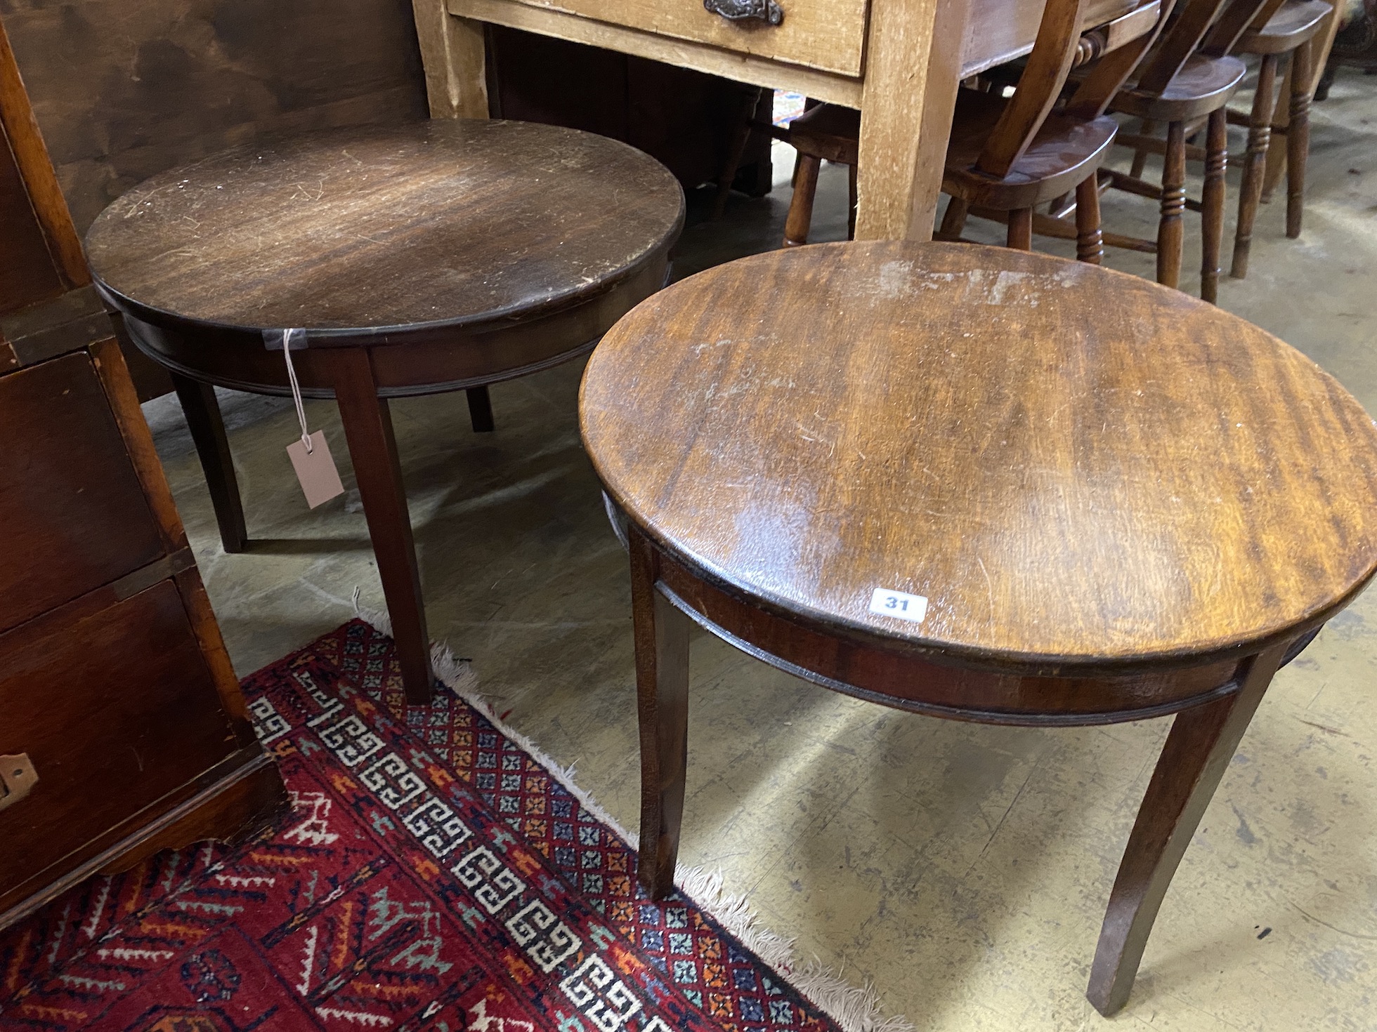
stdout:
<svg viewBox="0 0 1377 1032">
<path fill-rule="evenodd" d="M 0 630 L 162 555 L 85 354 L 0 380 Z"/>
</svg>

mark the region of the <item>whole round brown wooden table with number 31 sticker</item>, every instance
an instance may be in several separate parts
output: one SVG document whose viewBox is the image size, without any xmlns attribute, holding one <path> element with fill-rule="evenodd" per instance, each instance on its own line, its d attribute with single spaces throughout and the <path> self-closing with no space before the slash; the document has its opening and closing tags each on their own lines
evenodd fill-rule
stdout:
<svg viewBox="0 0 1377 1032">
<path fill-rule="evenodd" d="M 742 259 L 627 315 L 580 405 L 629 535 L 642 885 L 672 888 L 690 619 L 940 717 L 1177 713 L 1095 954 L 1106 1014 L 1274 671 L 1377 567 L 1358 402 L 1256 326 L 1089 264 Z"/>
</svg>

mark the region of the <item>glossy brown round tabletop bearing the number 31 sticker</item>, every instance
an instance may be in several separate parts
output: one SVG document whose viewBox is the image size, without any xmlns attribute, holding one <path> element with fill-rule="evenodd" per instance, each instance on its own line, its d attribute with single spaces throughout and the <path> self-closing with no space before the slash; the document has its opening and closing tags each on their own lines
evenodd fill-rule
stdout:
<svg viewBox="0 0 1377 1032">
<path fill-rule="evenodd" d="M 609 494 L 671 555 L 881 644 L 1045 673 L 1197 660 L 1318 625 L 1377 568 L 1377 428 L 1333 377 L 1048 256 L 720 266 L 607 333 L 581 409 Z M 924 621 L 872 611 L 877 589 Z"/>
</svg>

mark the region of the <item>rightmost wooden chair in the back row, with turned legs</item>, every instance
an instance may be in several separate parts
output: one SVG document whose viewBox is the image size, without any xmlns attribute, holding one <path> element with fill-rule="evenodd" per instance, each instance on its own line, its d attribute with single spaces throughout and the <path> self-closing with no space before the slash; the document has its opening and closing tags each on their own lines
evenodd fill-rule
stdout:
<svg viewBox="0 0 1377 1032">
<path fill-rule="evenodd" d="M 1234 47 L 1235 54 L 1257 54 L 1257 92 L 1249 114 L 1228 113 L 1228 120 L 1248 127 L 1248 157 L 1243 160 L 1243 189 L 1238 197 L 1238 230 L 1234 234 L 1234 261 L 1230 275 L 1248 275 L 1248 252 L 1253 242 L 1253 220 L 1263 197 L 1267 151 L 1272 133 L 1286 136 L 1286 235 L 1300 235 L 1305 206 L 1305 158 L 1310 154 L 1310 102 L 1314 83 L 1312 41 L 1333 12 L 1325 0 L 1285 0 L 1271 18 L 1254 22 Z M 1289 117 L 1274 127 L 1278 103 L 1275 81 L 1279 65 L 1290 62 Z"/>
</svg>

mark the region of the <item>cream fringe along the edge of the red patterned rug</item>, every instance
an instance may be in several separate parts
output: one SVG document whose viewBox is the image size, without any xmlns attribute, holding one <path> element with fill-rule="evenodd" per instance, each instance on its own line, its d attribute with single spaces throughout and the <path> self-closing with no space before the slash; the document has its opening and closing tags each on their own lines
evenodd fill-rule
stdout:
<svg viewBox="0 0 1377 1032">
<path fill-rule="evenodd" d="M 359 605 L 358 588 L 354 589 L 354 611 L 359 619 L 391 636 L 391 621 L 387 614 Z M 435 677 L 446 688 L 482 713 L 494 728 L 529 753 L 537 764 L 549 772 L 551 777 L 578 799 L 584 809 L 617 832 L 632 849 L 639 846 L 639 835 L 624 828 L 596 799 L 578 787 L 574 780 L 573 764 L 565 766 L 555 762 L 540 746 L 497 716 L 487 699 L 479 694 L 478 677 L 467 659 L 456 659 L 443 644 L 432 644 L 431 665 Z M 825 1010 L 844 1032 L 914 1032 L 913 1022 L 902 1014 L 884 1015 L 880 1009 L 880 993 L 869 981 L 859 987 L 852 985 L 841 978 L 840 971 L 829 970 L 817 956 L 800 963 L 795 954 L 793 940 L 767 929 L 745 896 L 728 893 L 722 871 L 680 866 L 675 872 L 675 885 L 782 980 Z"/>
</svg>

